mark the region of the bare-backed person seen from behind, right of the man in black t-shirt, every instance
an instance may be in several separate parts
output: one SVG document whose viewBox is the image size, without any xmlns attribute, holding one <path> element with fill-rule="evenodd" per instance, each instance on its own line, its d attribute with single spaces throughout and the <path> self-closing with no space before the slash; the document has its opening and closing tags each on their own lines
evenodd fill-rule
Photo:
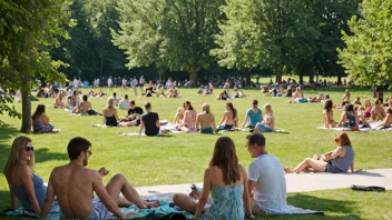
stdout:
<svg viewBox="0 0 392 220">
<path fill-rule="evenodd" d="M 204 103 L 202 106 L 203 112 L 196 117 L 196 131 L 200 133 L 214 133 L 218 130 L 215 126 L 215 117 L 210 113 L 209 104 Z"/>
</svg>

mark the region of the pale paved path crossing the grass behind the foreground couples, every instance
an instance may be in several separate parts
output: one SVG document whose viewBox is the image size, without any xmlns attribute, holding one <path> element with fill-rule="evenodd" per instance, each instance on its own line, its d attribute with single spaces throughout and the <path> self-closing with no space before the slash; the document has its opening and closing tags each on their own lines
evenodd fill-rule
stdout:
<svg viewBox="0 0 392 220">
<path fill-rule="evenodd" d="M 286 174 L 287 192 L 306 192 L 315 190 L 329 190 L 350 188 L 357 186 L 378 186 L 392 189 L 392 169 L 363 170 L 357 173 L 291 173 Z M 175 192 L 190 192 L 190 184 L 169 184 L 154 187 L 137 187 L 136 190 L 144 199 L 157 197 L 171 201 Z M 203 182 L 196 182 L 203 187 Z"/>
</svg>

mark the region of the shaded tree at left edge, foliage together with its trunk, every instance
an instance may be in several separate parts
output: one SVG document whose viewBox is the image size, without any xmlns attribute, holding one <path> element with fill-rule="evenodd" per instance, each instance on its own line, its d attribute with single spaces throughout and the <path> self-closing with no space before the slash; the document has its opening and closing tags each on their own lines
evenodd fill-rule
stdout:
<svg viewBox="0 0 392 220">
<path fill-rule="evenodd" d="M 51 60 L 43 47 L 58 47 L 57 36 L 68 37 L 61 27 L 69 23 L 68 0 L 0 1 L 0 86 L 20 89 L 22 132 L 31 132 L 30 90 L 35 77 L 62 81 L 57 71 L 63 64 Z"/>
</svg>

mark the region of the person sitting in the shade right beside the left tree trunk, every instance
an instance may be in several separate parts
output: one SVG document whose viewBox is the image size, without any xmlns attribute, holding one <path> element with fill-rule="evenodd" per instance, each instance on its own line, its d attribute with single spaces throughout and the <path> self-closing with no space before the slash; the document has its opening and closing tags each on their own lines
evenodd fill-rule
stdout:
<svg viewBox="0 0 392 220">
<path fill-rule="evenodd" d="M 32 132 L 33 133 L 48 133 L 52 132 L 55 126 L 50 123 L 49 118 L 45 114 L 45 106 L 38 104 L 36 112 L 31 117 Z"/>
</svg>

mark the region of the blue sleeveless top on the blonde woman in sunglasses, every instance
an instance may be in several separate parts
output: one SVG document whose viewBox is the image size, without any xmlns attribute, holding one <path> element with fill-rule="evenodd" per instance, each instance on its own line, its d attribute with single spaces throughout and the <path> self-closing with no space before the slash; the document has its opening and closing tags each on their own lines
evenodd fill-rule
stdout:
<svg viewBox="0 0 392 220">
<path fill-rule="evenodd" d="M 32 173 L 31 179 L 32 179 L 32 184 L 35 187 L 35 194 L 36 194 L 37 201 L 39 203 L 39 207 L 42 209 L 43 201 L 47 196 L 47 187 L 43 184 L 43 180 L 39 176 Z M 27 196 L 27 192 L 23 186 L 11 187 L 11 191 L 18 198 L 20 203 L 22 203 L 24 210 L 33 211 L 31 202 L 29 200 L 29 197 Z"/>
</svg>

